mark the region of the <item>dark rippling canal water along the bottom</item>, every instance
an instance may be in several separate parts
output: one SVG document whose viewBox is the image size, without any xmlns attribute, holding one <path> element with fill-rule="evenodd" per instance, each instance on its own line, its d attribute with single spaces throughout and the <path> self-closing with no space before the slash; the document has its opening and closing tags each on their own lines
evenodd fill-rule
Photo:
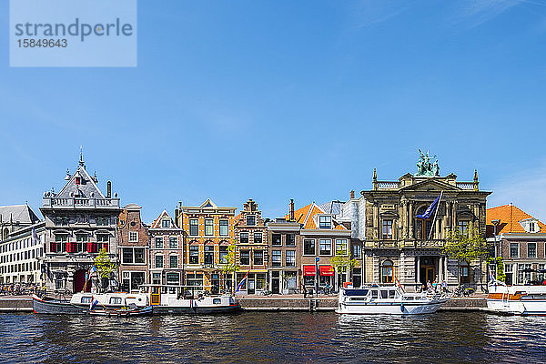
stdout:
<svg viewBox="0 0 546 364">
<path fill-rule="evenodd" d="M 546 318 L 0 314 L 0 362 L 546 362 Z"/>
</svg>

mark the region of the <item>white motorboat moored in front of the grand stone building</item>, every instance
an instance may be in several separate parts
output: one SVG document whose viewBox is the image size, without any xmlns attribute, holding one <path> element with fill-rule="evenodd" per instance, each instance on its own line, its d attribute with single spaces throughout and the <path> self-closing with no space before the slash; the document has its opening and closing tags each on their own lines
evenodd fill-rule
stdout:
<svg viewBox="0 0 546 364">
<path fill-rule="evenodd" d="M 417 315 L 434 313 L 449 298 L 440 293 L 405 293 L 398 286 L 341 288 L 340 314 Z"/>
</svg>

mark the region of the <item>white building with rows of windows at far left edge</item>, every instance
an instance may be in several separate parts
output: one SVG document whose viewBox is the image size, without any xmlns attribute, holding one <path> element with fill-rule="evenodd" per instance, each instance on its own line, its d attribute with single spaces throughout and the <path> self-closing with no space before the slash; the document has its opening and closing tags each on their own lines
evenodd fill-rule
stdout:
<svg viewBox="0 0 546 364">
<path fill-rule="evenodd" d="M 30 208 L 28 210 L 32 211 Z M 44 255 L 44 241 L 45 221 L 20 227 L 11 232 L 8 238 L 0 241 L 0 284 L 40 285 L 42 277 L 40 259 Z"/>
</svg>

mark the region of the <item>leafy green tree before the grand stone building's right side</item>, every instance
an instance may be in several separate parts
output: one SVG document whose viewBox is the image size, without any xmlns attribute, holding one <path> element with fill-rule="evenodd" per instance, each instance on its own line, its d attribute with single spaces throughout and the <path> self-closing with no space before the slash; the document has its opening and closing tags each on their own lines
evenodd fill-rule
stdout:
<svg viewBox="0 0 546 364">
<path fill-rule="evenodd" d="M 470 263 L 478 258 L 487 258 L 490 254 L 487 242 L 480 235 L 479 229 L 471 222 L 464 232 L 459 227 L 450 230 L 442 250 L 448 258 L 457 260 L 458 271 L 463 261 Z"/>
</svg>

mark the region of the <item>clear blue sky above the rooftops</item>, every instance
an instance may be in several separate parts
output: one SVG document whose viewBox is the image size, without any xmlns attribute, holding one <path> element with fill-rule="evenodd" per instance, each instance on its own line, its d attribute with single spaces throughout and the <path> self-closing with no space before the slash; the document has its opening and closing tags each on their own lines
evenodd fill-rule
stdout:
<svg viewBox="0 0 546 364">
<path fill-rule="evenodd" d="M 136 68 L 10 68 L 0 3 L 0 204 L 41 206 L 79 146 L 147 221 L 177 201 L 266 217 L 415 172 L 546 220 L 546 3 L 138 2 Z"/>
</svg>

